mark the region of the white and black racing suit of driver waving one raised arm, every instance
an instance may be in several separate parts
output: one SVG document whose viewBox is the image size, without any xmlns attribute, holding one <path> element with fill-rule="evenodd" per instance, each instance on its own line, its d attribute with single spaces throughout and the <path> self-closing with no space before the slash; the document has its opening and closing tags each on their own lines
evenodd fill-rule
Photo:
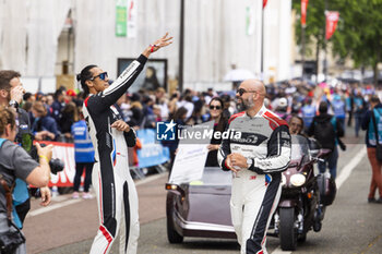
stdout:
<svg viewBox="0 0 382 254">
<path fill-rule="evenodd" d="M 91 254 L 109 253 L 118 234 L 119 253 L 136 253 L 138 195 L 128 156 L 128 146 L 135 145 L 135 133 L 133 129 L 121 132 L 110 125 L 122 119 L 114 104 L 132 85 L 146 60 L 141 55 L 109 87 L 84 101 L 83 113 L 95 149 L 92 181 L 99 211 L 99 229 Z"/>
</svg>

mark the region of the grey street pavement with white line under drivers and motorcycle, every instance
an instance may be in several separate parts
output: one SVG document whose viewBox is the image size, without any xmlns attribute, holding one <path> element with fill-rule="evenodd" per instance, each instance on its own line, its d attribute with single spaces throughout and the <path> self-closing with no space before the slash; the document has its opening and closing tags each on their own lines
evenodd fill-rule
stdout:
<svg viewBox="0 0 382 254">
<path fill-rule="evenodd" d="M 307 242 L 299 244 L 294 253 L 382 253 L 382 204 L 367 203 L 371 169 L 361 138 L 348 138 L 347 143 L 353 144 L 341 152 L 337 180 L 345 181 L 334 204 L 326 209 L 321 232 L 310 231 Z M 349 177 L 343 178 L 353 165 Z M 165 219 L 166 181 L 167 173 L 136 182 L 141 221 L 139 254 L 239 253 L 239 245 L 232 240 L 186 238 L 182 244 L 169 244 Z M 28 253 L 88 253 L 98 228 L 96 201 L 70 197 L 61 195 L 45 208 L 33 201 L 23 230 Z M 290 253 L 279 250 L 276 238 L 267 239 L 267 250 L 274 254 Z M 110 253 L 118 253 L 118 244 Z"/>
</svg>

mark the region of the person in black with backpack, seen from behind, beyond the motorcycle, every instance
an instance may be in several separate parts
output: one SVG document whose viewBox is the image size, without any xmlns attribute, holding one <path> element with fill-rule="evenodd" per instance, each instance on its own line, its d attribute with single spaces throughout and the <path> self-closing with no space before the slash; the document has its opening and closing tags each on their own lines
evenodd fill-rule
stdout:
<svg viewBox="0 0 382 254">
<path fill-rule="evenodd" d="M 313 118 L 309 128 L 308 135 L 314 136 L 322 148 L 331 149 L 325 161 L 319 161 L 319 170 L 321 173 L 326 171 L 326 165 L 333 179 L 337 174 L 338 137 L 344 135 L 344 130 L 335 117 L 327 113 L 326 101 L 321 101 L 319 107 L 320 114 Z"/>
</svg>

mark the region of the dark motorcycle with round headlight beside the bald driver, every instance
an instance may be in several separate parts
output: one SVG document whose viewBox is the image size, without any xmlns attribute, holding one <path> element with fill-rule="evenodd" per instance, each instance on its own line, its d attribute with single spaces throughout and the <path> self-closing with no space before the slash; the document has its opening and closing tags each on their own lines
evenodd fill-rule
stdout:
<svg viewBox="0 0 382 254">
<path fill-rule="evenodd" d="M 311 229 L 321 230 L 326 206 L 335 198 L 336 185 L 330 173 L 314 174 L 314 164 L 330 153 L 301 135 L 291 136 L 291 161 L 283 172 L 282 194 L 273 217 L 274 233 L 283 251 L 294 251 Z"/>
</svg>

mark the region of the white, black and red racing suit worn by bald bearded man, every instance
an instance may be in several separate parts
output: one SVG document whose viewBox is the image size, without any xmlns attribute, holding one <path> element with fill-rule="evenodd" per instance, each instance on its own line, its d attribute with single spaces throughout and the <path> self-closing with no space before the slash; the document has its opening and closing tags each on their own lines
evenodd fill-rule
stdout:
<svg viewBox="0 0 382 254">
<path fill-rule="evenodd" d="M 251 159 L 248 169 L 232 173 L 230 211 L 241 254 L 266 253 L 266 230 L 280 196 L 282 172 L 290 161 L 288 125 L 263 106 L 254 117 L 234 114 L 228 131 L 235 135 L 223 140 L 218 153 L 222 169 L 229 170 L 229 154 Z"/>
</svg>

